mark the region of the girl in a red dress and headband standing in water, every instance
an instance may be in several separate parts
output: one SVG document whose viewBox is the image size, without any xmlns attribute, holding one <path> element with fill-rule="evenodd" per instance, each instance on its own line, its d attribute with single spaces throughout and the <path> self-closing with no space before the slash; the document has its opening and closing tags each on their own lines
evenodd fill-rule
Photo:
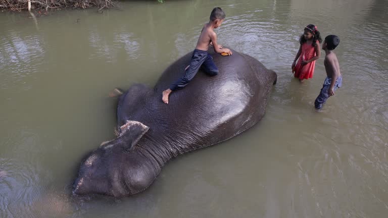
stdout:
<svg viewBox="0 0 388 218">
<path fill-rule="evenodd" d="M 305 27 L 305 33 L 301 35 L 299 42 L 301 46 L 291 68 L 295 72 L 295 77 L 302 82 L 304 79 L 313 78 L 315 61 L 321 56 L 319 43 L 322 42 L 322 38 L 317 27 L 313 24 Z"/>
</svg>

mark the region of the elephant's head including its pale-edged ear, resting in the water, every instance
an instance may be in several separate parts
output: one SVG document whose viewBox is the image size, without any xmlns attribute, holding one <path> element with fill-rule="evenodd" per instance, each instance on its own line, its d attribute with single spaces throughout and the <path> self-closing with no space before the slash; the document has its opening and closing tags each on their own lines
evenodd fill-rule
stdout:
<svg viewBox="0 0 388 218">
<path fill-rule="evenodd" d="M 82 162 L 73 193 L 121 197 L 146 189 L 156 177 L 155 164 L 147 155 L 133 149 L 149 128 L 128 121 L 120 135 L 103 143 Z"/>
</svg>

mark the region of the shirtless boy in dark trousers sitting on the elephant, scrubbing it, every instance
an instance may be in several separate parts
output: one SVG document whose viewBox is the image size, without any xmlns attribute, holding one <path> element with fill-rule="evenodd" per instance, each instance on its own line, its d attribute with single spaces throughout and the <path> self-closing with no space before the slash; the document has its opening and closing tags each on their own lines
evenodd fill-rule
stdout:
<svg viewBox="0 0 388 218">
<path fill-rule="evenodd" d="M 228 53 L 232 55 L 232 51 L 228 48 L 223 48 L 217 43 L 217 34 L 214 32 L 215 28 L 221 26 L 225 20 L 225 13 L 221 8 L 214 8 L 210 14 L 210 21 L 204 25 L 198 39 L 196 49 L 192 52 L 190 65 L 185 69 L 185 75 L 171 84 L 170 88 L 163 91 L 162 100 L 168 103 L 168 96 L 172 91 L 178 90 L 186 86 L 192 78 L 197 74 L 200 67 L 210 76 L 218 74 L 218 68 L 213 62 L 212 56 L 208 53 L 209 45 L 214 47 L 217 53 Z"/>
</svg>

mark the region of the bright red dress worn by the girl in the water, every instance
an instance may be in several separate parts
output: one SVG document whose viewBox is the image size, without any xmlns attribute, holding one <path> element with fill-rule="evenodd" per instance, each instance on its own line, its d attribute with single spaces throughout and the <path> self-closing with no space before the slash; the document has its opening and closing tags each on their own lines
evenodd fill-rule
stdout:
<svg viewBox="0 0 388 218">
<path fill-rule="evenodd" d="M 319 41 L 316 41 L 318 44 Z M 310 62 L 306 65 L 302 65 L 302 60 L 308 61 L 316 56 L 315 47 L 311 44 L 304 43 L 302 45 L 302 53 L 299 57 L 298 63 L 295 66 L 295 77 L 299 79 L 313 78 L 315 61 Z"/>
</svg>

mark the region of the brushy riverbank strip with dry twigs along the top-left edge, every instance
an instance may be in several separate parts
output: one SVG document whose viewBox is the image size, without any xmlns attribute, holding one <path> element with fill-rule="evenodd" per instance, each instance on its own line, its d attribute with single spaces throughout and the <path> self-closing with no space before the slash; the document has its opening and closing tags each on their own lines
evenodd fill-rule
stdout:
<svg viewBox="0 0 388 218">
<path fill-rule="evenodd" d="M 0 9 L 9 11 L 23 11 L 35 9 L 48 11 L 56 9 L 86 9 L 98 8 L 99 10 L 117 9 L 115 0 L 0 0 Z"/>
</svg>

